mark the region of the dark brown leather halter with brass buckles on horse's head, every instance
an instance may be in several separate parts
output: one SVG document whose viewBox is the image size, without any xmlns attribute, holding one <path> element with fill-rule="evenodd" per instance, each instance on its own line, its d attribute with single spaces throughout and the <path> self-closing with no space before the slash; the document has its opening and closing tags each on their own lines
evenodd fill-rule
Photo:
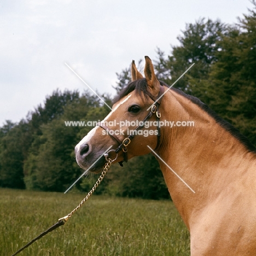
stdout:
<svg viewBox="0 0 256 256">
<path fill-rule="evenodd" d="M 158 135 L 157 135 L 157 138 L 158 138 L 158 142 L 156 144 L 156 147 L 155 149 L 157 149 L 159 147 L 159 144 L 160 144 L 160 136 L 161 136 L 161 133 L 160 133 L 160 124 L 159 124 L 159 121 L 160 121 L 160 117 L 161 117 L 161 114 L 160 114 L 160 111 L 159 111 L 159 106 L 160 106 L 160 103 L 161 103 L 161 100 L 162 100 L 162 94 L 164 94 L 164 86 L 160 85 L 160 90 L 159 90 L 159 94 L 157 97 L 153 96 L 152 94 L 150 94 L 149 91 L 145 91 L 145 93 L 150 97 L 152 98 L 152 100 L 155 102 L 149 113 L 146 115 L 146 117 L 144 118 L 144 120 L 142 121 L 143 125 L 139 125 L 136 127 L 136 129 L 134 131 L 138 131 L 138 130 L 141 130 L 143 127 L 144 127 L 144 124 L 145 124 L 145 121 L 148 120 L 150 117 L 152 117 L 153 114 L 156 114 L 156 120 L 157 120 L 157 123 L 158 123 Z M 106 125 L 102 124 L 101 122 L 97 123 L 98 126 L 102 127 L 104 130 L 107 131 L 107 134 L 109 136 L 111 136 L 112 138 L 115 139 L 115 141 L 117 141 L 119 143 L 119 146 L 117 149 L 112 149 L 112 150 L 109 150 L 109 152 L 115 152 L 116 154 L 118 154 L 121 150 L 123 150 L 123 155 L 124 155 L 124 159 L 122 161 L 119 162 L 120 166 L 123 166 L 123 162 L 127 162 L 127 146 L 130 144 L 131 142 L 131 139 L 134 138 L 135 136 L 135 132 L 133 133 L 133 135 L 129 135 L 128 137 L 126 137 L 123 142 L 120 141 L 120 139 L 114 134 L 114 131 L 112 129 L 109 129 L 109 127 L 107 127 Z M 110 131 L 113 131 L 111 132 L 112 134 L 110 134 L 109 132 Z M 108 154 L 107 154 L 108 156 Z M 115 160 L 115 159 L 114 159 Z"/>
</svg>

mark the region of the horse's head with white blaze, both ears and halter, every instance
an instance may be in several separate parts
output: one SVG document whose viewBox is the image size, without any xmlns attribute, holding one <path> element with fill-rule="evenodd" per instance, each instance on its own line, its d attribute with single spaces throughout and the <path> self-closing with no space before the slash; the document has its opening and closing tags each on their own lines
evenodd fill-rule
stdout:
<svg viewBox="0 0 256 256">
<path fill-rule="evenodd" d="M 133 156 L 149 153 L 147 146 L 156 148 L 159 144 L 159 131 L 154 121 L 160 113 L 157 99 L 164 88 L 156 78 L 152 61 L 148 56 L 145 60 L 145 78 L 132 61 L 132 82 L 115 98 L 107 117 L 75 147 L 78 165 L 85 170 L 92 165 L 92 172 L 100 171 L 106 161 L 104 153 L 113 162 L 127 161 Z"/>
</svg>

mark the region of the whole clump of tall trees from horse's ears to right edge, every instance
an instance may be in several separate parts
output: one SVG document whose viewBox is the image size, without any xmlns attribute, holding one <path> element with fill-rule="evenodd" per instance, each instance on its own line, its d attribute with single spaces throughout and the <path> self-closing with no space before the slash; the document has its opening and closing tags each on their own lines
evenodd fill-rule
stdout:
<svg viewBox="0 0 256 256">
<path fill-rule="evenodd" d="M 200 98 L 256 145 L 256 13 L 249 13 L 237 25 L 188 24 L 172 55 L 165 59 L 158 49 L 155 68 L 171 85 L 195 63 L 175 87 Z"/>
</svg>

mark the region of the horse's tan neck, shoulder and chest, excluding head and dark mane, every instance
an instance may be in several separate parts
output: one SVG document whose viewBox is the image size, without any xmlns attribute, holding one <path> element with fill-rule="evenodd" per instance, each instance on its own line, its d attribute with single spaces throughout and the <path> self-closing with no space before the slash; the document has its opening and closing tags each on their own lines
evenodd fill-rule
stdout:
<svg viewBox="0 0 256 256">
<path fill-rule="evenodd" d="M 161 118 L 195 120 L 193 129 L 164 127 L 158 152 L 195 190 L 191 193 L 159 160 L 172 200 L 190 231 L 191 255 L 255 255 L 255 154 L 196 104 L 174 91 L 169 94 L 172 100 L 162 100 L 162 108 L 178 109 L 179 115 L 161 111 Z"/>
</svg>

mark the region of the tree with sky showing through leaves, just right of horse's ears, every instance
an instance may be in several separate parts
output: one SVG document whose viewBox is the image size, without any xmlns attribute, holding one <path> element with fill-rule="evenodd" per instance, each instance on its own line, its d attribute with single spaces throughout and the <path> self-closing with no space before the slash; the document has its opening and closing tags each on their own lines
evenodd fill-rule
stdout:
<svg viewBox="0 0 256 256">
<path fill-rule="evenodd" d="M 221 35 L 225 26 L 220 21 L 213 22 L 200 19 L 195 24 L 187 24 L 183 35 L 178 36 L 180 46 L 172 46 L 172 55 L 164 59 L 164 53 L 158 49 L 156 70 L 161 74 L 160 79 L 167 84 L 174 83 L 193 63 L 195 66 L 180 79 L 175 87 L 186 93 L 194 92 L 190 79 L 196 83 L 208 79 L 212 63 L 217 61 Z"/>
</svg>

